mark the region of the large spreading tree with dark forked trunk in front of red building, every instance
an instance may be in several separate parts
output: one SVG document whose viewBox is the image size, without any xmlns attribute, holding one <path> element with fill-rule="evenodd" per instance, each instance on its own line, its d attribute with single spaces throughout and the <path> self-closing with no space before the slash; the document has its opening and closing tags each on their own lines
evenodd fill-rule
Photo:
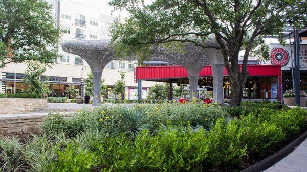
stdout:
<svg viewBox="0 0 307 172">
<path fill-rule="evenodd" d="M 112 28 L 117 56 L 134 53 L 146 58 L 156 50 L 152 47 L 172 42 L 220 49 L 231 84 L 231 106 L 240 104 L 250 53 L 254 51 L 268 58 L 262 36 L 281 38 L 289 19 L 305 18 L 307 7 L 305 0 L 153 0 L 148 5 L 141 2 L 110 2 L 115 9 L 125 9 L 131 14 Z M 216 39 L 216 45 L 205 43 L 209 36 Z M 245 50 L 242 67 L 238 64 L 241 50 Z"/>
</svg>

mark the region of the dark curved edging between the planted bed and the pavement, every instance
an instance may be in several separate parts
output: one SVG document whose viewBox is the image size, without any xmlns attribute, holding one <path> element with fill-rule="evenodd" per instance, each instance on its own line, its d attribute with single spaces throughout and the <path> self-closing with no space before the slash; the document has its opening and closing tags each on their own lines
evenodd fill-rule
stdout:
<svg viewBox="0 0 307 172">
<path fill-rule="evenodd" d="M 282 160 L 284 157 L 288 156 L 291 152 L 293 152 L 295 150 L 295 147 L 301 144 L 306 138 L 307 138 L 307 132 L 302 134 L 300 137 L 292 141 L 290 144 L 288 144 L 286 147 L 282 148 L 275 154 L 240 172 L 260 172 L 270 168 L 278 161 Z"/>
</svg>

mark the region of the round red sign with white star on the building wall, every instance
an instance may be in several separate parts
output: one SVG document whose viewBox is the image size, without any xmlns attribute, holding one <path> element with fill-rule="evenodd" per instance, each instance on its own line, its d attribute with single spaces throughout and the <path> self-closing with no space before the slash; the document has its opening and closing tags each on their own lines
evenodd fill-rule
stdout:
<svg viewBox="0 0 307 172">
<path fill-rule="evenodd" d="M 284 48 L 275 47 L 271 51 L 270 59 L 273 65 L 285 66 L 289 61 L 289 53 Z"/>
</svg>

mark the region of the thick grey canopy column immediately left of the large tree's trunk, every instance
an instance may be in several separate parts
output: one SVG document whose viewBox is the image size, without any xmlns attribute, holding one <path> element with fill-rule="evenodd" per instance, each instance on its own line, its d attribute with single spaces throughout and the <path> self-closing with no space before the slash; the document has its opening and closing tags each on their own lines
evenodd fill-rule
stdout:
<svg viewBox="0 0 307 172">
<path fill-rule="evenodd" d="M 224 64 L 211 64 L 213 73 L 213 102 L 223 103 Z"/>
</svg>

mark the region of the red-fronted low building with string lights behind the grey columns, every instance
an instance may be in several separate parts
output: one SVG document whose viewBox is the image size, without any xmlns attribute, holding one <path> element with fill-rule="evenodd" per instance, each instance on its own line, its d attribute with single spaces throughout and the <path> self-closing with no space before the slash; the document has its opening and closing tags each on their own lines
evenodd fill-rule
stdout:
<svg viewBox="0 0 307 172">
<path fill-rule="evenodd" d="M 243 89 L 244 99 L 281 100 L 281 66 L 278 65 L 248 65 L 249 77 Z M 189 84 L 187 71 L 183 66 L 147 66 L 137 67 L 135 80 L 147 80 Z M 198 81 L 200 88 L 212 93 L 213 78 L 211 66 L 205 66 L 200 72 Z M 200 90 L 200 89 L 199 89 Z M 224 68 L 223 82 L 224 98 L 231 96 L 231 85 Z M 201 95 L 199 95 L 201 97 Z"/>
</svg>

